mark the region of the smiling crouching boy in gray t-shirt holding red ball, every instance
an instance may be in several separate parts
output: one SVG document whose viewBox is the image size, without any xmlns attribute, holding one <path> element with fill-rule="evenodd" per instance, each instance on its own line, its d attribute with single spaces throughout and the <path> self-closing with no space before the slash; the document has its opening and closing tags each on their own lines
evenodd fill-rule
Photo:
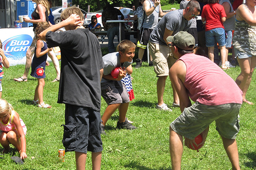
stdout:
<svg viewBox="0 0 256 170">
<path fill-rule="evenodd" d="M 134 58 L 136 46 L 132 41 L 123 40 L 117 45 L 117 51 L 103 56 L 104 73 L 101 81 L 102 97 L 107 103 L 107 108 L 102 116 L 102 134 L 105 135 L 105 124 L 111 115 L 119 108 L 119 120 L 117 122 L 118 129 L 137 129 L 128 122 L 126 112 L 129 106 L 129 95 L 126 91 L 121 79 L 126 76 L 126 71 L 130 71 L 132 58 Z M 119 69 L 117 78 L 111 76 L 111 71 L 116 67 Z"/>
</svg>

